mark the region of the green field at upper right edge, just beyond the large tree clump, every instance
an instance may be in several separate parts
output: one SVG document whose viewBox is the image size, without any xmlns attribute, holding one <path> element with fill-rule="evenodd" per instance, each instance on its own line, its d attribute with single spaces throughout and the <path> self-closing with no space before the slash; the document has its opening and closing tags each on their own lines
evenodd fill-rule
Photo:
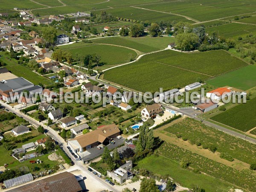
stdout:
<svg viewBox="0 0 256 192">
<path fill-rule="evenodd" d="M 256 26 L 241 23 L 229 23 L 221 26 L 210 27 L 206 29 L 207 33 L 218 32 L 218 35 L 224 38 L 245 37 L 246 35 L 256 34 Z"/>
</svg>

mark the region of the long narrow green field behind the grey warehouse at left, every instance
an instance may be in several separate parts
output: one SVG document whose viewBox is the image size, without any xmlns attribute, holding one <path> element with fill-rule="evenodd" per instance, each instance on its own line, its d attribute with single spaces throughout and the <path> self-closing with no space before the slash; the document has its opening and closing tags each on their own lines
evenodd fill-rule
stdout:
<svg viewBox="0 0 256 192">
<path fill-rule="evenodd" d="M 30 70 L 28 67 L 25 67 L 21 64 L 17 63 L 17 60 L 11 59 L 9 61 L 9 56 L 6 56 L 6 52 L 4 53 L 4 56 L 0 58 L 0 61 L 3 61 L 7 65 L 5 66 L 11 73 L 18 77 L 23 77 L 27 79 L 28 81 L 32 82 L 33 84 L 39 84 L 42 83 L 44 85 L 52 84 L 52 81 L 39 76 L 38 74 L 34 73 L 32 70 Z"/>
</svg>

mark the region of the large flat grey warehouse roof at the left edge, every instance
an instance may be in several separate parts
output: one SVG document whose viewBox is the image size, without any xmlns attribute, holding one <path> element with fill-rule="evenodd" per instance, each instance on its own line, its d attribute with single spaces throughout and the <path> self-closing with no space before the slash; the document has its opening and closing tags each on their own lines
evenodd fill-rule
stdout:
<svg viewBox="0 0 256 192">
<path fill-rule="evenodd" d="M 9 79 L 4 83 L 3 83 L 3 81 L 1 81 L 0 82 L 0 90 L 2 90 L 2 91 L 11 90 L 11 89 L 15 90 L 15 89 L 18 89 L 21 87 L 26 87 L 29 85 L 33 85 L 33 84 L 22 77 L 18 77 L 15 79 Z"/>
</svg>

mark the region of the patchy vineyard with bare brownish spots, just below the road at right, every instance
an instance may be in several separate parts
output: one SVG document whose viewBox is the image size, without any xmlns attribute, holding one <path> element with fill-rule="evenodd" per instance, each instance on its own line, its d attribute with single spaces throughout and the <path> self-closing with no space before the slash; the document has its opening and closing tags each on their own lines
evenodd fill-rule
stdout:
<svg viewBox="0 0 256 192">
<path fill-rule="evenodd" d="M 186 118 L 164 129 L 178 137 L 186 138 L 191 144 L 215 145 L 220 153 L 228 153 L 233 158 L 248 164 L 256 162 L 256 146 L 250 142 L 233 137 L 194 119 Z M 207 134 L 205 134 L 207 132 Z"/>
</svg>

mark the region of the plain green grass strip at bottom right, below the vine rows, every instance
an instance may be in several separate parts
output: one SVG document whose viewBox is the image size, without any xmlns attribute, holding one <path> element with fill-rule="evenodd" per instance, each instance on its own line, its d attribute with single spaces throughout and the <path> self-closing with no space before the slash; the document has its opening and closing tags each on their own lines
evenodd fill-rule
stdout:
<svg viewBox="0 0 256 192">
<path fill-rule="evenodd" d="M 232 185 L 222 180 L 204 174 L 196 174 L 189 169 L 182 169 L 180 164 L 174 160 L 162 156 L 151 155 L 137 163 L 137 167 L 147 169 L 156 175 L 172 177 L 175 182 L 183 187 L 192 187 L 198 184 L 207 192 L 227 192 Z"/>
</svg>

